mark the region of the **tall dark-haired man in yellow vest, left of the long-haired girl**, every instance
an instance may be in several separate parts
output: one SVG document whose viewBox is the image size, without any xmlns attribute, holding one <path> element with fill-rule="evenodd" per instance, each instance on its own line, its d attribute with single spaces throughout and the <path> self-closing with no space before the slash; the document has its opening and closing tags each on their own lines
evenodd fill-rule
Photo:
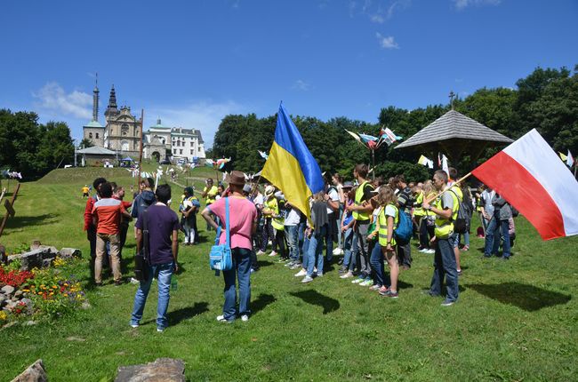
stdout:
<svg viewBox="0 0 578 382">
<path fill-rule="evenodd" d="M 353 170 L 353 176 L 357 179 L 359 186 L 355 194 L 354 203 L 347 206 L 348 211 L 352 211 L 355 220 L 354 232 L 357 236 L 357 248 L 359 250 L 360 273 L 359 277 L 352 283 L 364 283 L 371 281 L 371 268 L 369 265 L 369 241 L 367 240 L 369 228 L 369 215 L 373 211 L 371 198 L 373 197 L 373 186 L 367 181 L 369 169 L 366 164 L 357 164 Z"/>
</svg>

